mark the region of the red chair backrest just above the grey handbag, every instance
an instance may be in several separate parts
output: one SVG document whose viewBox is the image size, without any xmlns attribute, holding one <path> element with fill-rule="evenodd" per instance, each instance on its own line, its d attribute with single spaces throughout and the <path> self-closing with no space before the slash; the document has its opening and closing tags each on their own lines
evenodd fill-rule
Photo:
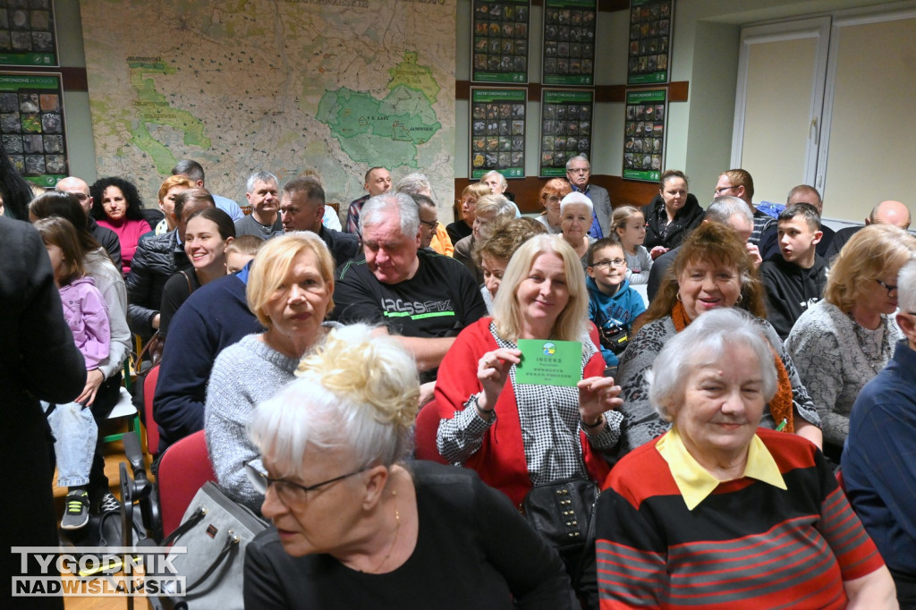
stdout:
<svg viewBox="0 0 916 610">
<path fill-rule="evenodd" d="M 169 445 L 159 460 L 156 484 L 162 513 L 162 532 L 170 534 L 181 524 L 184 511 L 204 483 L 216 481 L 213 465 L 207 454 L 203 430 L 194 432 Z"/>
</svg>

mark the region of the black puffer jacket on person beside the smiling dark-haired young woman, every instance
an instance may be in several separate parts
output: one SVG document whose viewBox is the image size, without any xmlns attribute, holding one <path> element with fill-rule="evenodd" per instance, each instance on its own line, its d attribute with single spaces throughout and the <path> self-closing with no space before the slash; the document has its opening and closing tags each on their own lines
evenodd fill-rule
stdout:
<svg viewBox="0 0 916 610">
<path fill-rule="evenodd" d="M 153 317 L 162 303 L 162 288 L 175 273 L 190 269 L 191 261 L 178 245 L 174 231 L 146 234 L 136 245 L 127 284 L 127 324 L 146 341 L 153 335 Z"/>
</svg>

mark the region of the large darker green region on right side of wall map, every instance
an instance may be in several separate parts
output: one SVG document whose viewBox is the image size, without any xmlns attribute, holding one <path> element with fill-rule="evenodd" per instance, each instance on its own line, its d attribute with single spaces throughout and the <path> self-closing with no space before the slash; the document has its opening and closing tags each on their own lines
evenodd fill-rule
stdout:
<svg viewBox="0 0 916 610">
<path fill-rule="evenodd" d="M 344 152 L 359 163 L 417 168 L 417 147 L 442 125 L 432 110 L 429 92 L 402 84 L 385 99 L 341 88 L 322 95 L 316 117 L 331 128 Z"/>
</svg>

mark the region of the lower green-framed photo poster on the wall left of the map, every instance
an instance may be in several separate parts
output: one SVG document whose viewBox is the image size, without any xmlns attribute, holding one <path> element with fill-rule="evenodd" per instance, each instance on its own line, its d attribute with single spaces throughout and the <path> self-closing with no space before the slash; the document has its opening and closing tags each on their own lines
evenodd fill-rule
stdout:
<svg viewBox="0 0 916 610">
<path fill-rule="evenodd" d="M 53 187 L 66 178 L 60 74 L 0 72 L 0 137 L 26 180 Z"/>
</svg>

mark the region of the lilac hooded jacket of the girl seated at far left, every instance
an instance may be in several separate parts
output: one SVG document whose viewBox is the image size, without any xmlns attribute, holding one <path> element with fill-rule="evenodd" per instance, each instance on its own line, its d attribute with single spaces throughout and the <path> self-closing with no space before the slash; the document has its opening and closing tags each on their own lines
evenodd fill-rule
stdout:
<svg viewBox="0 0 916 610">
<path fill-rule="evenodd" d="M 63 317 L 73 333 L 73 341 L 86 360 L 86 370 L 91 371 L 108 357 L 111 346 L 108 307 L 102 293 L 95 288 L 95 281 L 89 276 L 76 278 L 59 290 Z"/>
</svg>

